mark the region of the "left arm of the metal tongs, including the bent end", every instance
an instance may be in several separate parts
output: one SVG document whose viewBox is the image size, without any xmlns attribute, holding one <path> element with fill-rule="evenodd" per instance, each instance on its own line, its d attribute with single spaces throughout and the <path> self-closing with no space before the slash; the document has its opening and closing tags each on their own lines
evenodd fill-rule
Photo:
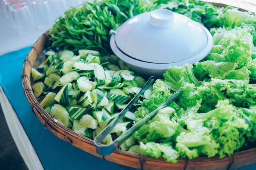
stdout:
<svg viewBox="0 0 256 170">
<path fill-rule="evenodd" d="M 142 95 L 148 88 L 149 86 L 153 83 L 154 77 L 151 76 L 146 84 L 141 88 L 141 91 L 135 95 L 135 97 L 126 105 L 126 107 L 119 113 L 117 117 L 115 117 L 114 120 L 108 124 L 108 126 L 101 131 L 95 138 L 94 138 L 94 144 L 96 146 L 96 151 L 99 155 L 110 155 L 120 143 L 113 142 L 112 144 L 109 145 L 102 145 L 101 142 L 105 137 L 111 132 L 111 130 L 117 125 L 117 123 L 124 117 L 124 115 L 127 113 L 128 110 L 132 107 L 132 105 L 139 99 L 139 96 Z"/>
</svg>

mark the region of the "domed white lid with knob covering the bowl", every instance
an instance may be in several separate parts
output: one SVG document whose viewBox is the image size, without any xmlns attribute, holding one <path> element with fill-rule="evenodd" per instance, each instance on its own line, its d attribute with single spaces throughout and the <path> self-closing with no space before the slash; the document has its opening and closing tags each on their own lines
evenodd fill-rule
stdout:
<svg viewBox="0 0 256 170">
<path fill-rule="evenodd" d="M 205 57 L 213 41 L 204 26 L 167 9 L 136 15 L 112 33 L 117 49 L 126 56 L 161 64 Z"/>
</svg>

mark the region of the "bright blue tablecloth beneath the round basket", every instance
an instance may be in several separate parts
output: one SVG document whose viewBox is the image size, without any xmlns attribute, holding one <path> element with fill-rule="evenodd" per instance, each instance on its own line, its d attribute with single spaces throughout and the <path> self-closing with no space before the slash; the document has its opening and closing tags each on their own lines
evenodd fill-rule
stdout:
<svg viewBox="0 0 256 170">
<path fill-rule="evenodd" d="M 90 155 L 49 132 L 31 112 L 21 84 L 22 64 L 30 47 L 0 56 L 0 86 L 34 146 L 45 170 L 136 170 Z M 255 170 L 256 164 L 236 168 Z"/>
</svg>

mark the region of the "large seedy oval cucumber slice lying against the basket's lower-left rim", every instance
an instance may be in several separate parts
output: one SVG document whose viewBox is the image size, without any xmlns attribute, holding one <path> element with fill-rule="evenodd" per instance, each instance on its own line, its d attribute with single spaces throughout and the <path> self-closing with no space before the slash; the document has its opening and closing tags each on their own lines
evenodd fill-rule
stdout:
<svg viewBox="0 0 256 170">
<path fill-rule="evenodd" d="M 63 106 L 59 104 L 54 104 L 50 110 L 50 115 L 58 121 L 61 121 L 64 126 L 68 127 L 69 115 L 67 110 Z"/>
</svg>

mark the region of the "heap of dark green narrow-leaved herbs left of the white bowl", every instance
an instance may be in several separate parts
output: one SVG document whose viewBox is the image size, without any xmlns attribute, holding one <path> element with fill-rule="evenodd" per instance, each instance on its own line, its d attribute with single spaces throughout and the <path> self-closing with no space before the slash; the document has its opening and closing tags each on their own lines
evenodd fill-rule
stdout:
<svg viewBox="0 0 256 170">
<path fill-rule="evenodd" d="M 68 50 L 94 49 L 111 53 L 110 34 L 128 18 L 152 11 L 152 0 L 103 0 L 84 2 L 65 11 L 49 30 L 49 46 Z"/>
</svg>

